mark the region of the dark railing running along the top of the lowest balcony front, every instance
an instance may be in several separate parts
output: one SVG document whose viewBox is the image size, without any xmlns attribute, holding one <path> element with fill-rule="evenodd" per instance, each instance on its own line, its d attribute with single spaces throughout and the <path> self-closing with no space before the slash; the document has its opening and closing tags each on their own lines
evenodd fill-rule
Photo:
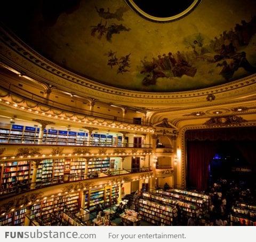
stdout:
<svg viewBox="0 0 256 242">
<path fill-rule="evenodd" d="M 123 173 L 123 171 L 125 171 L 126 173 Z M 122 174 L 139 173 L 139 172 L 147 172 L 147 171 L 151 171 L 151 167 L 112 171 L 110 174 L 108 174 L 107 172 L 101 172 L 101 173 L 105 174 L 108 177 L 111 177 L 111 176 L 117 176 Z M 106 178 L 106 176 L 103 176 L 102 178 Z M 50 187 L 52 185 L 58 185 L 61 183 L 91 180 L 95 178 L 101 178 L 101 176 L 99 176 L 99 173 L 97 174 L 97 173 L 91 172 L 87 174 L 81 173 L 81 174 L 61 175 L 61 176 L 57 176 L 56 178 L 44 179 L 36 182 L 22 183 L 18 185 L 13 185 L 13 187 L 10 187 L 10 188 L 0 189 L 0 199 L 2 196 L 6 196 L 9 194 L 13 195 L 13 193 L 18 195 L 19 193 L 26 192 L 31 188 L 33 189 L 33 187 L 34 189 L 38 189 L 38 188 Z"/>
</svg>

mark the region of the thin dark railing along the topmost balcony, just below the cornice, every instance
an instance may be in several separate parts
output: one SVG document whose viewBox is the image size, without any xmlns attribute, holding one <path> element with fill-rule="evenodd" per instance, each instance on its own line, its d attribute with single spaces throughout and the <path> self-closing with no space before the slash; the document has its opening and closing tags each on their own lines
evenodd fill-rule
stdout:
<svg viewBox="0 0 256 242">
<path fill-rule="evenodd" d="M 5 85 L 5 87 L 3 85 Z M 35 101 L 35 102 L 42 104 L 43 106 L 46 106 L 46 107 L 50 107 L 50 108 L 54 108 L 54 109 L 58 108 L 61 111 L 72 111 L 74 114 L 77 114 L 77 115 L 86 115 L 86 116 L 91 116 L 91 117 L 96 117 L 96 118 L 106 118 L 106 119 L 110 119 L 110 120 L 117 120 L 119 122 L 125 122 L 125 123 L 130 123 L 130 124 L 140 124 L 140 125 L 151 126 L 151 123 L 143 122 L 142 120 L 140 123 L 137 123 L 133 119 L 126 119 L 123 117 L 102 114 L 102 112 L 84 110 L 81 108 L 69 106 L 66 103 L 51 101 L 42 96 L 39 96 L 39 95 L 31 93 L 27 90 L 24 90 L 15 84 L 7 82 L 6 80 L 3 80 L 3 85 L 1 86 L 1 88 L 3 88 L 4 91 L 10 92 L 11 94 L 14 94 L 14 95 L 17 95 L 17 96 L 19 96 L 19 98 L 23 98 L 23 99 L 26 99 L 29 101 Z"/>
</svg>

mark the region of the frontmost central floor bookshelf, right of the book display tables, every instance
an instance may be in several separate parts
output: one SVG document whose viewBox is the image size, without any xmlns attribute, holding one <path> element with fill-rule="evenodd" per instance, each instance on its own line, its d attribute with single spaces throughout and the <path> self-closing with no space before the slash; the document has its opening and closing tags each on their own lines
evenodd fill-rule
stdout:
<svg viewBox="0 0 256 242">
<path fill-rule="evenodd" d="M 139 214 L 154 225 L 170 226 L 177 223 L 178 209 L 158 201 L 139 199 Z"/>
</svg>

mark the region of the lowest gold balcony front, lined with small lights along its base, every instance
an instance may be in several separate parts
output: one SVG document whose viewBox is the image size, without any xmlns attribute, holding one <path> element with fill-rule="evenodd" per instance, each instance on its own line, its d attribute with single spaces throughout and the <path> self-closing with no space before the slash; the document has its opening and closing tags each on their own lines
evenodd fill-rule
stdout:
<svg viewBox="0 0 256 242">
<path fill-rule="evenodd" d="M 39 185 L 35 189 L 18 190 L 9 195 L 0 196 L 0 213 L 8 213 L 14 209 L 29 206 L 46 198 L 60 196 L 69 192 L 83 192 L 85 190 L 101 188 L 111 184 L 122 184 L 135 180 L 143 180 L 153 177 L 150 168 L 143 168 L 136 173 L 127 171 L 125 174 L 107 175 L 101 178 L 82 179 L 77 181 L 60 182 L 47 185 Z M 31 185 L 31 184 L 29 184 Z M 19 187 L 18 187 L 19 188 Z M 15 195 L 15 196 L 14 196 Z"/>
</svg>

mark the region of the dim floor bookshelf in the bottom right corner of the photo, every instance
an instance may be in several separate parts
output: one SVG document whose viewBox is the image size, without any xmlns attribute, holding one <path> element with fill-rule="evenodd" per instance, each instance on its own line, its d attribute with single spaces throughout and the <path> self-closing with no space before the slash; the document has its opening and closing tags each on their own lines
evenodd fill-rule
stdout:
<svg viewBox="0 0 256 242">
<path fill-rule="evenodd" d="M 256 226 L 256 205 L 236 202 L 231 208 L 230 225 Z"/>
</svg>

